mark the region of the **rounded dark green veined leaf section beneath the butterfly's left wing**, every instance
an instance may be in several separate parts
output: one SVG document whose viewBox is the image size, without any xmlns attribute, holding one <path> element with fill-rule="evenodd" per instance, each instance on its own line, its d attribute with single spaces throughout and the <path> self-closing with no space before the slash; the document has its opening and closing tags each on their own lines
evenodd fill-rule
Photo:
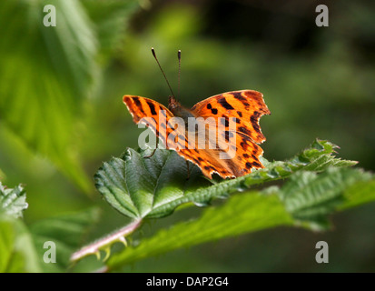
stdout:
<svg viewBox="0 0 375 291">
<path fill-rule="evenodd" d="M 195 191 L 211 183 L 192 166 L 187 179 L 186 163 L 173 151 L 137 153 L 128 148 L 121 158 L 104 163 L 94 176 L 96 187 L 115 209 L 132 218 L 166 216 L 183 202 L 199 203 Z M 170 207 L 165 207 L 171 205 Z M 153 210 L 159 210 L 155 215 Z"/>
</svg>

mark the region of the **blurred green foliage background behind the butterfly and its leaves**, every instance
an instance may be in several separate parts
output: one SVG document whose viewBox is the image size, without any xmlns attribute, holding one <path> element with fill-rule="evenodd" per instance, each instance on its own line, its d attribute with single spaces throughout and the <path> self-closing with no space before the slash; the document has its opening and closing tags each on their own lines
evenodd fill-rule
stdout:
<svg viewBox="0 0 375 291">
<path fill-rule="evenodd" d="M 44 27 L 53 4 L 56 27 Z M 292 156 L 315 137 L 340 156 L 375 168 L 374 4 L 326 1 L 330 26 L 315 25 L 315 3 L 265 1 L 14 0 L 0 4 L 0 168 L 3 184 L 24 183 L 25 223 L 100 206 L 88 238 L 126 221 L 94 190 L 104 160 L 137 147 L 141 132 L 122 96 L 164 105 L 181 49 L 183 105 L 237 89 L 263 93 L 269 160 Z M 86 195 L 84 195 L 86 194 Z M 89 198 L 87 196 L 91 196 Z M 144 260 L 128 271 L 374 271 L 374 205 L 334 217 L 335 230 L 278 228 Z M 145 235 L 200 209 L 143 227 Z M 7 226 L 6 226 L 7 227 Z M 315 263 L 315 243 L 330 264 Z M 90 264 L 77 270 L 91 270 Z"/>
</svg>

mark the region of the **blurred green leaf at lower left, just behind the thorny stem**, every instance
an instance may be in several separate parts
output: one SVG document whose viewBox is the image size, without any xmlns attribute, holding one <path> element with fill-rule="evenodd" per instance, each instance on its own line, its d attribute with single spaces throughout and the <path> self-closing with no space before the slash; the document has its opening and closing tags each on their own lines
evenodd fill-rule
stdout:
<svg viewBox="0 0 375 291">
<path fill-rule="evenodd" d="M 70 265 L 70 256 L 82 245 L 84 236 L 99 218 L 99 211 L 91 208 L 86 211 L 64 216 L 48 217 L 30 226 L 40 266 L 44 272 L 64 272 Z M 45 242 L 54 242 L 56 263 L 44 263 Z"/>
</svg>

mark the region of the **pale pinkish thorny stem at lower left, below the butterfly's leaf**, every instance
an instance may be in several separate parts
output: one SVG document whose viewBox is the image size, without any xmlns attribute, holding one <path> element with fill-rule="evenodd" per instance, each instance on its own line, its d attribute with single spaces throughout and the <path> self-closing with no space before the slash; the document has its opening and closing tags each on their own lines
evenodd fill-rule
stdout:
<svg viewBox="0 0 375 291">
<path fill-rule="evenodd" d="M 100 250 L 101 249 L 109 249 L 111 245 L 115 242 L 122 242 L 126 246 L 126 239 L 125 236 L 129 236 L 133 233 L 135 229 L 137 229 L 142 224 L 142 219 L 134 220 L 131 224 L 123 226 L 119 230 L 113 232 L 113 234 L 109 236 L 104 236 L 103 238 L 100 238 L 99 240 L 95 241 L 93 244 L 90 244 L 88 246 L 84 246 L 80 250 L 76 251 L 71 257 L 70 260 L 72 262 L 78 261 L 82 259 L 84 256 L 89 255 L 96 255 L 98 258 L 100 258 Z M 104 258 L 104 260 L 109 256 L 109 253 L 107 252 L 107 256 Z"/>
</svg>

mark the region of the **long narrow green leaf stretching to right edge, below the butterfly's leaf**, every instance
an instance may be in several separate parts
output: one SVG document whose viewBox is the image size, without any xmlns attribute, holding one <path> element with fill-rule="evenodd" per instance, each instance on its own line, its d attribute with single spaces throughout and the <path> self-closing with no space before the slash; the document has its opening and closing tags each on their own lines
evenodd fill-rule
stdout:
<svg viewBox="0 0 375 291">
<path fill-rule="evenodd" d="M 178 223 L 143 239 L 138 246 L 123 248 L 111 256 L 107 266 L 117 270 L 148 256 L 275 226 L 316 229 L 322 218 L 327 221 L 342 206 L 375 201 L 374 185 L 374 176 L 359 169 L 330 168 L 321 175 L 297 172 L 280 189 L 271 186 L 232 196 L 222 206 L 207 208 L 194 221 Z M 301 220 L 309 224 L 301 224 Z"/>
</svg>

